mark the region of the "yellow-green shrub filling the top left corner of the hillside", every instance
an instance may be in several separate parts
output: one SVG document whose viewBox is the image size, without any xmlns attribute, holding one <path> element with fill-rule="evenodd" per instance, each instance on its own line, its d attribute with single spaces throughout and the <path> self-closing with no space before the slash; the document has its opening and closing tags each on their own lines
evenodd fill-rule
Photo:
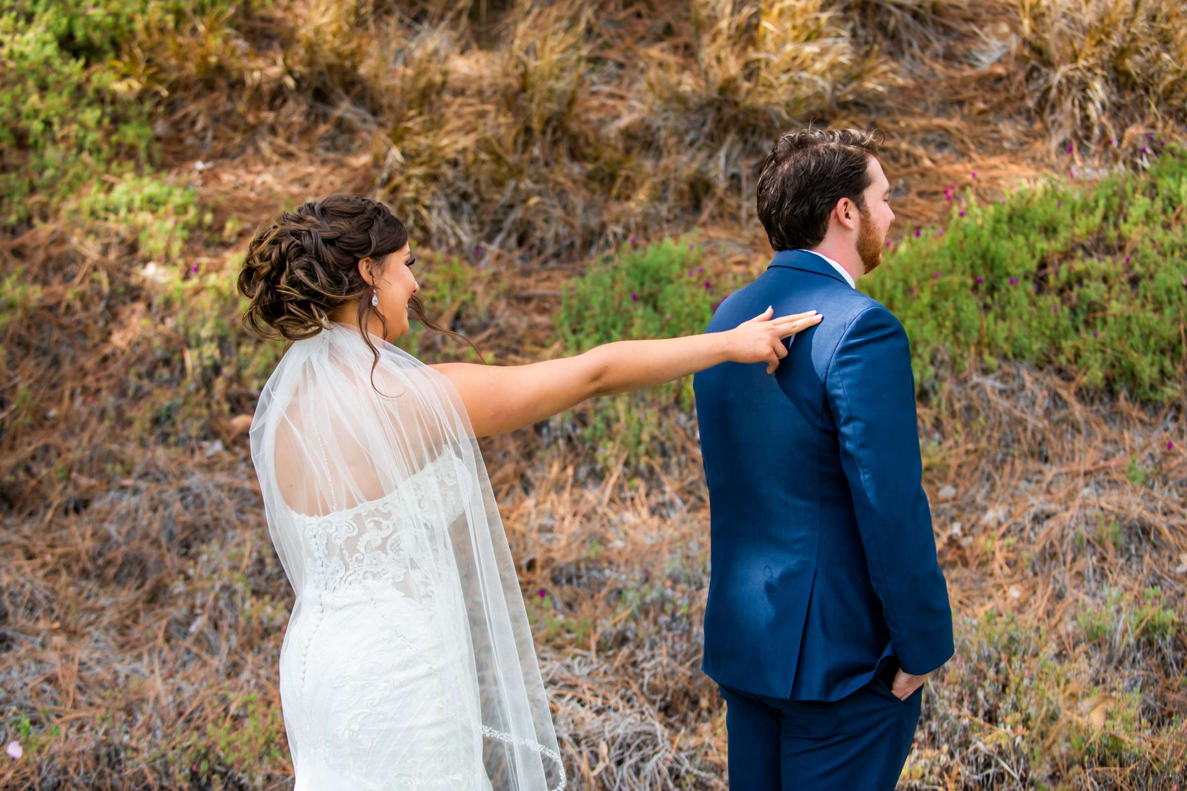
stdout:
<svg viewBox="0 0 1187 791">
<path fill-rule="evenodd" d="M 0 218 L 47 219 L 88 183 L 142 172 L 151 102 L 119 60 L 234 0 L 17 0 L 0 9 Z M 139 47 L 135 47 L 139 49 Z"/>
</svg>

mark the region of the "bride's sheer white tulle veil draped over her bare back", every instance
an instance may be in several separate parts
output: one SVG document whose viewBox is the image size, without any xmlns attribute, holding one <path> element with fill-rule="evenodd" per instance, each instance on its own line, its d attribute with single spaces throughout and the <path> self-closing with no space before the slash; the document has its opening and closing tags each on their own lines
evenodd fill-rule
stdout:
<svg viewBox="0 0 1187 791">
<path fill-rule="evenodd" d="M 293 342 L 252 421 L 268 532 L 297 597 L 293 619 L 318 606 L 318 580 L 330 572 L 417 602 L 433 614 L 434 644 L 446 646 L 449 687 L 475 693 L 458 700 L 491 786 L 563 789 L 523 598 L 465 408 L 443 375 L 369 339 L 379 350 L 374 372 L 355 326 L 330 323 Z M 394 504 L 386 522 L 351 518 L 379 502 Z M 310 537 L 303 525 L 311 518 L 332 525 L 332 544 Z M 294 642 L 286 633 L 281 657 L 300 650 Z M 305 745 L 293 739 L 291 716 L 286 701 L 297 764 Z"/>
</svg>

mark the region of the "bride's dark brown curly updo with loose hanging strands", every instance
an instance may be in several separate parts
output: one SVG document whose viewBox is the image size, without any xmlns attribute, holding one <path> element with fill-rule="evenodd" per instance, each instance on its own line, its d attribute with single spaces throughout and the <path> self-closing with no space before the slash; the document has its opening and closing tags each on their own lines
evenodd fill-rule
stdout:
<svg viewBox="0 0 1187 791">
<path fill-rule="evenodd" d="M 379 350 L 366 327 L 374 312 L 386 336 L 387 319 L 363 299 L 370 286 L 358 273 L 358 261 L 372 257 L 381 267 L 385 256 L 407 243 L 404 223 L 382 203 L 362 196 L 336 193 L 281 213 L 247 248 L 236 283 L 249 300 L 243 326 L 260 338 L 312 338 L 329 326 L 335 308 L 358 300 L 358 331 L 375 356 L 374 372 Z M 408 300 L 408 307 L 410 317 L 433 332 L 478 351 L 469 338 L 425 315 L 418 296 Z"/>
</svg>

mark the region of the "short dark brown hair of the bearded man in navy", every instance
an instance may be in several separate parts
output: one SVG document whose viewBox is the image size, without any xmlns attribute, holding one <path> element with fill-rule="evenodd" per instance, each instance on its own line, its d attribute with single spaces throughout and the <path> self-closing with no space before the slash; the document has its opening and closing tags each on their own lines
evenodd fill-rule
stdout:
<svg viewBox="0 0 1187 791">
<path fill-rule="evenodd" d="M 865 211 L 869 159 L 882 135 L 862 129 L 813 129 L 781 136 L 767 154 L 756 189 L 758 219 L 770 247 L 812 248 L 824 241 L 829 212 L 842 198 Z"/>
</svg>

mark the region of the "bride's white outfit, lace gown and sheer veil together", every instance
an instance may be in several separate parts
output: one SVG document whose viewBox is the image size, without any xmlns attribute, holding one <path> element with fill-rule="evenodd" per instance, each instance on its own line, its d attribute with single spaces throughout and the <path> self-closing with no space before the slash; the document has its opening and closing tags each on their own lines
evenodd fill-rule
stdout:
<svg viewBox="0 0 1187 791">
<path fill-rule="evenodd" d="M 368 337 L 374 371 L 348 325 L 294 342 L 250 429 L 269 535 L 297 594 L 280 650 L 294 791 L 560 791 L 522 597 L 464 407 L 445 377 Z"/>
</svg>

